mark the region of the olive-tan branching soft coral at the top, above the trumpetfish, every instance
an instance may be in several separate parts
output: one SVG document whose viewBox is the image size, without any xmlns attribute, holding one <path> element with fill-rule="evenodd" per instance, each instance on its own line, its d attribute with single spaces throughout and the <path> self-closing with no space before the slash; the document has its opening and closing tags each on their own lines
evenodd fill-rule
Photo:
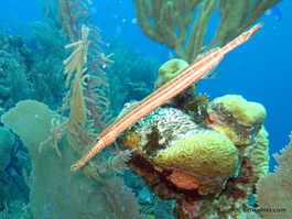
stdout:
<svg viewBox="0 0 292 219">
<path fill-rule="evenodd" d="M 174 48 L 179 57 L 192 63 L 202 50 L 225 45 L 280 1 L 134 0 L 134 4 L 144 34 Z M 220 20 L 207 44 L 207 28 L 216 11 Z"/>
</svg>

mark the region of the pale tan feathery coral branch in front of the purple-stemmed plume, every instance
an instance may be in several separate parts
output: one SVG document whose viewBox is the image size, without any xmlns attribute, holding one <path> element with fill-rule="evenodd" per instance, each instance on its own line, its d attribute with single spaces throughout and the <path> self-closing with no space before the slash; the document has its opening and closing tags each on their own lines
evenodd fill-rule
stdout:
<svg viewBox="0 0 292 219">
<path fill-rule="evenodd" d="M 56 118 L 53 118 L 54 121 L 52 121 L 52 128 L 51 128 L 51 134 L 52 136 L 48 138 L 45 142 L 41 144 L 41 147 L 45 143 L 50 143 L 53 141 L 52 145 L 56 149 L 56 152 L 60 156 L 62 156 L 57 142 L 61 140 L 62 135 L 64 135 L 67 130 L 68 135 L 67 139 L 71 142 L 71 145 L 76 151 L 79 151 L 83 146 L 80 145 L 80 133 L 84 133 L 84 130 L 86 129 L 86 103 L 83 96 L 83 87 L 82 87 L 82 77 L 84 73 L 84 66 L 86 64 L 86 55 L 87 55 L 87 48 L 88 48 L 88 34 L 89 30 L 83 26 L 83 41 L 69 44 L 68 47 L 77 47 L 73 54 L 64 61 L 64 63 L 67 65 L 65 68 L 65 73 L 67 73 L 67 79 L 66 79 L 66 86 L 69 84 L 69 79 L 72 75 L 76 72 L 74 79 L 72 80 L 72 87 L 67 95 L 66 102 L 69 108 L 69 117 L 67 120 L 63 120 L 62 122 L 56 120 Z M 60 119 L 60 118 L 58 118 Z M 62 118 L 61 118 L 62 119 Z M 82 136 L 85 139 L 85 136 Z M 87 142 L 85 142 L 87 143 Z"/>
</svg>

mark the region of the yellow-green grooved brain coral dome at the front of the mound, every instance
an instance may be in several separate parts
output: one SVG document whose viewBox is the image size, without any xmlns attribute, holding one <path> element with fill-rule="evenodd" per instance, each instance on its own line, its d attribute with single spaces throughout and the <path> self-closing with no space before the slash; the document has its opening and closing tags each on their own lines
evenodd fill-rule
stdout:
<svg viewBox="0 0 292 219">
<path fill-rule="evenodd" d="M 236 173 L 239 154 L 227 136 L 206 131 L 183 138 L 173 146 L 160 151 L 154 162 L 199 178 L 216 179 L 230 177 Z"/>
</svg>

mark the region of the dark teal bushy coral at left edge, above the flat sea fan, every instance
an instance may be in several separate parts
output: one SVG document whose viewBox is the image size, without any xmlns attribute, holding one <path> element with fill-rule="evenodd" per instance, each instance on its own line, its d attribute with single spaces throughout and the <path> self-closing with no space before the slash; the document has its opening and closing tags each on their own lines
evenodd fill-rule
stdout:
<svg viewBox="0 0 292 219">
<path fill-rule="evenodd" d="M 0 108 L 2 111 L 15 102 L 31 98 L 28 72 L 31 68 L 31 51 L 19 36 L 4 37 L 0 34 Z"/>
</svg>

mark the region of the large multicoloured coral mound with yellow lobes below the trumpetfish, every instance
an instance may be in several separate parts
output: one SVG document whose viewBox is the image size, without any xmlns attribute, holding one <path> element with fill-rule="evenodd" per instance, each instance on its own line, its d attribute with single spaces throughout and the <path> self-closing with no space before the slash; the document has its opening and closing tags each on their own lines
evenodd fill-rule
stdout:
<svg viewBox="0 0 292 219">
<path fill-rule="evenodd" d="M 266 111 L 259 103 L 231 97 L 236 99 L 232 105 L 218 101 L 227 97 L 213 100 L 207 109 L 209 118 L 201 124 L 181 110 L 159 108 L 118 140 L 121 146 L 136 149 L 130 167 L 149 188 L 161 199 L 176 200 L 174 215 L 179 218 L 245 217 L 242 209 L 249 207 L 256 182 L 267 174 Z M 256 116 L 244 120 L 244 125 L 242 118 L 250 109 Z M 210 122 L 215 112 L 217 123 Z M 224 129 L 217 131 L 218 121 L 236 130 L 231 138 Z M 248 124 L 253 129 L 246 130 Z M 247 141 L 242 143 L 242 139 Z"/>
</svg>

